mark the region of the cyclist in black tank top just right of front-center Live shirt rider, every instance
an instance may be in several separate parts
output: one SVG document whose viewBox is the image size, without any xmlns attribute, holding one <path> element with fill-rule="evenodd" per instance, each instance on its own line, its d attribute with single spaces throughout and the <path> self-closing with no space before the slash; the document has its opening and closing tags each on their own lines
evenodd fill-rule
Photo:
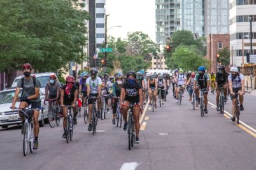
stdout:
<svg viewBox="0 0 256 170">
<path fill-rule="evenodd" d="M 150 105 L 152 105 L 152 93 L 153 100 L 155 101 L 155 108 L 157 108 L 157 79 L 155 79 L 155 75 L 152 73 L 148 74 L 148 96 L 150 100 Z M 153 89 L 153 91 L 152 91 Z"/>
</svg>

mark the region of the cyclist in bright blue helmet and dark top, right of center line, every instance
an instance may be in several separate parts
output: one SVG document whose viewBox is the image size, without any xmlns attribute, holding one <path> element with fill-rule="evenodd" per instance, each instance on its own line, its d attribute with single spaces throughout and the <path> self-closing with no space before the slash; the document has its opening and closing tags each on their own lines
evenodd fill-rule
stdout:
<svg viewBox="0 0 256 170">
<path fill-rule="evenodd" d="M 208 76 L 208 74 L 206 74 L 206 69 L 204 66 L 200 66 L 197 69 L 198 74 L 196 75 L 196 79 L 194 81 L 194 91 L 196 91 L 196 96 L 197 96 L 197 103 L 196 103 L 196 107 L 198 107 L 199 102 L 200 102 L 200 98 L 199 98 L 199 89 L 203 89 L 204 90 L 204 111 L 205 114 L 208 114 L 208 110 L 207 110 L 207 105 L 208 105 L 208 91 L 209 91 L 209 86 L 210 86 L 210 77 Z"/>
</svg>

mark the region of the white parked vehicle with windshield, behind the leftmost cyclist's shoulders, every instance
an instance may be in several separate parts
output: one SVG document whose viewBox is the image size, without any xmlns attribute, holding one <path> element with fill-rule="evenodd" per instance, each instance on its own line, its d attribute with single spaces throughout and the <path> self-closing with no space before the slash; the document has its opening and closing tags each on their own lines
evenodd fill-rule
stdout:
<svg viewBox="0 0 256 170">
<path fill-rule="evenodd" d="M 44 73 L 36 73 L 36 74 L 32 74 L 35 75 L 36 78 L 38 78 L 40 84 L 41 84 L 41 88 L 40 91 L 43 93 L 43 95 L 45 95 L 45 85 L 46 82 L 48 82 L 50 80 L 50 75 L 52 74 L 52 72 L 44 72 Z M 18 81 L 24 77 L 24 75 L 20 75 L 18 77 L 16 77 L 13 81 L 13 84 L 11 85 L 11 88 L 16 88 Z M 59 81 L 58 77 L 57 77 L 57 81 Z"/>
</svg>

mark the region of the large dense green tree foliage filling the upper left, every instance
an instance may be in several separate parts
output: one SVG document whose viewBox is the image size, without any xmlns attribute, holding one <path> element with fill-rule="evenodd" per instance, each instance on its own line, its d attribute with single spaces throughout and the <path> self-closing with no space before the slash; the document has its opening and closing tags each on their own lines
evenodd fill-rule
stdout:
<svg viewBox="0 0 256 170">
<path fill-rule="evenodd" d="M 0 71 L 56 71 L 69 61 L 81 62 L 87 39 L 86 11 L 74 0 L 0 1 Z M 74 7 L 75 6 L 75 7 Z"/>
</svg>

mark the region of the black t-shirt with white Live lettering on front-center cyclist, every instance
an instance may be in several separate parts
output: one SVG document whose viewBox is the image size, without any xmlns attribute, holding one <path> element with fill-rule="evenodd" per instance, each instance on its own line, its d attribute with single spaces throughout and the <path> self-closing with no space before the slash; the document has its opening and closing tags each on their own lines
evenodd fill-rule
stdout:
<svg viewBox="0 0 256 170">
<path fill-rule="evenodd" d="M 141 84 L 136 82 L 134 88 L 130 88 L 128 86 L 128 82 L 124 82 L 122 84 L 122 88 L 125 89 L 125 98 L 124 98 L 124 100 L 127 100 L 131 103 L 139 103 L 139 89 L 142 89 Z"/>
</svg>

